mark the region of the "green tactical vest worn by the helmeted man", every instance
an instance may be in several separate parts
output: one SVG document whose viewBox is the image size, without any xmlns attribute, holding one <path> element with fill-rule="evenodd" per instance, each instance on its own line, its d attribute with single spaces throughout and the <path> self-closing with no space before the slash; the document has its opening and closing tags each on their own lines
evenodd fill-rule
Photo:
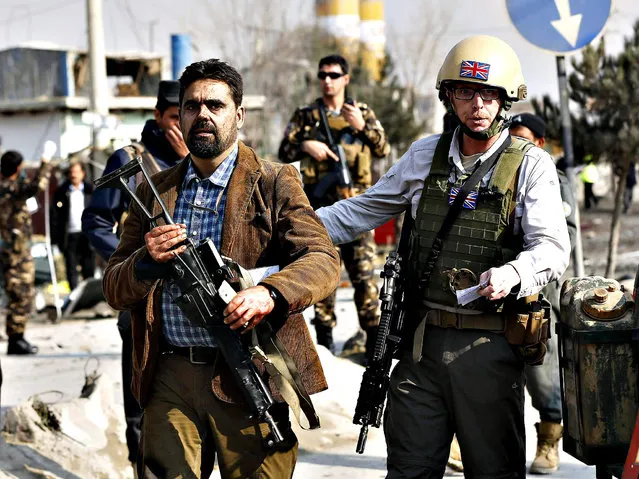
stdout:
<svg viewBox="0 0 639 479">
<path fill-rule="evenodd" d="M 460 187 L 467 177 L 455 184 L 448 181 L 448 153 L 453 135 L 441 136 L 435 149 L 430 173 L 410 235 L 409 278 L 418 284 L 435 236 L 448 213 L 450 189 Z M 519 167 L 532 143 L 512 137 L 512 144 L 501 154 L 486 187 L 478 190 L 476 209 L 463 208 L 455 220 L 437 259 L 430 281 L 421 290 L 422 300 L 455 307 L 495 311 L 498 301 L 479 299 L 461 307 L 454 293 L 479 283 L 484 271 L 514 260 L 523 249 L 523 238 L 514 237 L 512 220 L 514 192 Z M 477 190 L 477 188 L 473 188 Z"/>
</svg>

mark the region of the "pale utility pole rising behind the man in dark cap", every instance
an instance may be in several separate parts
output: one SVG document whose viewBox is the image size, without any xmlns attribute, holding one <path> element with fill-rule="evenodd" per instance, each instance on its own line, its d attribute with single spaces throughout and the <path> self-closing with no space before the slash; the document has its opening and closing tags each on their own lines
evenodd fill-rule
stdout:
<svg viewBox="0 0 639 479">
<path fill-rule="evenodd" d="M 102 20 L 102 0 L 87 0 L 87 26 L 89 30 L 89 71 L 91 73 L 91 111 L 93 121 L 93 141 L 90 165 L 92 179 L 95 178 L 97 150 L 102 149 L 100 130 L 109 114 L 109 93 L 106 79 L 106 57 L 104 54 L 104 22 Z"/>
</svg>

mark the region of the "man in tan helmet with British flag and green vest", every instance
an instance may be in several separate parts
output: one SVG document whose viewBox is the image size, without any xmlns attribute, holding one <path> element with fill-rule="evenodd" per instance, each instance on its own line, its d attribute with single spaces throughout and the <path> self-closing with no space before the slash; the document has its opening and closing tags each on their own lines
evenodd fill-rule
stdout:
<svg viewBox="0 0 639 479">
<path fill-rule="evenodd" d="M 524 478 L 524 364 L 543 361 L 548 329 L 538 293 L 570 255 L 559 181 L 544 150 L 508 131 L 527 93 L 510 46 L 461 41 L 436 87 L 460 126 L 416 141 L 375 186 L 318 215 L 338 244 L 405 210 L 412 220 L 387 477 L 443 477 L 457 434 L 470 477 Z"/>
</svg>

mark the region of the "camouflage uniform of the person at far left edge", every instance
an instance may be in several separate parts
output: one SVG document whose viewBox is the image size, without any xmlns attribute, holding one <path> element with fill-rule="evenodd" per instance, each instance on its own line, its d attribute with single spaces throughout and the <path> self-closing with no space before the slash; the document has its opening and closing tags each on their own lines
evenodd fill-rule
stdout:
<svg viewBox="0 0 639 479">
<path fill-rule="evenodd" d="M 33 309 L 35 268 L 29 244 L 33 225 L 26 201 L 45 190 L 50 174 L 50 164 L 43 163 L 32 180 L 0 179 L 0 260 L 8 297 L 8 336 L 24 332 Z"/>
</svg>

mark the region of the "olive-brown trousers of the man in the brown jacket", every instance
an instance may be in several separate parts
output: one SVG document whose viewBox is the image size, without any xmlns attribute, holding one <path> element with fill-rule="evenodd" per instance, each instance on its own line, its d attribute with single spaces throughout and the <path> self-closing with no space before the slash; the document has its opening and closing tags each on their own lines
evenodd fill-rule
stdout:
<svg viewBox="0 0 639 479">
<path fill-rule="evenodd" d="M 159 357 L 142 424 L 145 466 L 161 479 L 208 479 L 217 456 L 223 479 L 291 478 L 297 438 L 290 430 L 288 406 L 271 410 L 290 439 L 278 450 L 268 449 L 266 423 L 247 419 L 246 406 L 215 397 L 213 369 L 213 365 L 191 364 L 182 356 Z"/>
</svg>

